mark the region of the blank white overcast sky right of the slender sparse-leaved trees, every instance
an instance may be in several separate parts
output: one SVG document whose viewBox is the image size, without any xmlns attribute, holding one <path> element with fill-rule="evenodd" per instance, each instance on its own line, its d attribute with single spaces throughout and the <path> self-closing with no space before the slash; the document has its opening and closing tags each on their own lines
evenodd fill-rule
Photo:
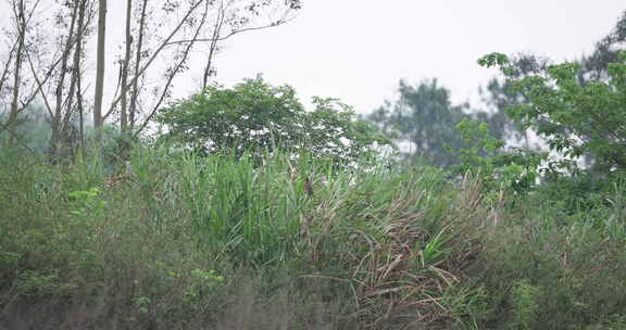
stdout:
<svg viewBox="0 0 626 330">
<path fill-rule="evenodd" d="M 108 23 L 113 26 L 109 31 L 123 26 L 125 3 L 109 1 Z M 497 74 L 476 64 L 481 55 L 533 52 L 574 59 L 591 51 L 626 10 L 624 0 L 303 3 L 291 23 L 238 35 L 224 43 L 216 59 L 216 80 L 230 86 L 263 73 L 272 84 L 295 87 L 305 103 L 312 96 L 334 97 L 367 113 L 395 97 L 400 78 L 415 84 L 436 77 L 451 89 L 455 102 L 462 102 Z M 0 22 L 8 16 L 2 7 Z M 177 82 L 175 96 L 197 92 L 199 80 L 200 73 Z"/>
</svg>

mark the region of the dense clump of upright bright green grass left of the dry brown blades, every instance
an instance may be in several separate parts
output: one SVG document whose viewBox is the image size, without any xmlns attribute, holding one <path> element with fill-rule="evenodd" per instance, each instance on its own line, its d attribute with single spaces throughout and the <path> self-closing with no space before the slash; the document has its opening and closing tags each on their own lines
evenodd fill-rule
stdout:
<svg viewBox="0 0 626 330">
<path fill-rule="evenodd" d="M 250 154 L 187 154 L 178 169 L 172 168 L 181 185 L 178 207 L 184 207 L 200 246 L 224 249 L 217 256 L 237 264 L 261 266 L 293 257 L 305 192 L 295 189 L 297 182 L 288 183 L 288 155 L 274 156 L 273 166 L 256 169 Z"/>
</svg>

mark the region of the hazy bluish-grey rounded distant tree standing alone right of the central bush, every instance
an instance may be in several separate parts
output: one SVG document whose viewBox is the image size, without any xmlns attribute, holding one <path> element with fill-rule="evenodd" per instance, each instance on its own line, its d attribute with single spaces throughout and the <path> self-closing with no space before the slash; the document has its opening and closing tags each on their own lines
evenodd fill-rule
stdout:
<svg viewBox="0 0 626 330">
<path fill-rule="evenodd" d="M 463 105 L 452 105 L 450 91 L 427 79 L 413 87 L 400 80 L 400 98 L 367 116 L 389 137 L 410 143 L 409 158 L 428 158 L 435 165 L 449 166 L 458 158 L 448 147 L 459 149 L 463 141 L 454 126 L 467 115 Z"/>
</svg>

